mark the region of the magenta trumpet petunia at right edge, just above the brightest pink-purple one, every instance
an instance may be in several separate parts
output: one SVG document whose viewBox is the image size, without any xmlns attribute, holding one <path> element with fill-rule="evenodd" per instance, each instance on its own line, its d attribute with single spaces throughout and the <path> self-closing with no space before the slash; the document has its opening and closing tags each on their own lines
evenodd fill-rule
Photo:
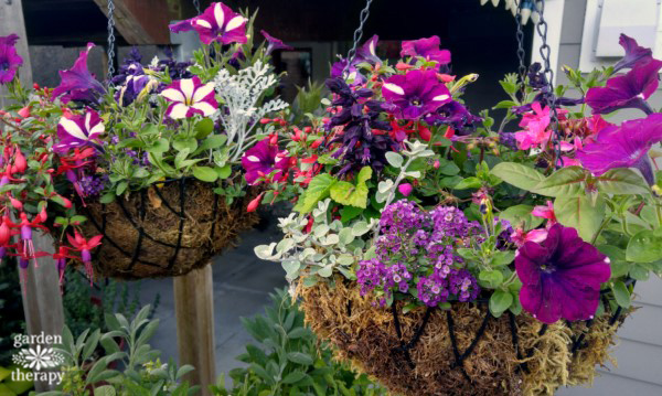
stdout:
<svg viewBox="0 0 662 396">
<path fill-rule="evenodd" d="M 651 114 L 645 100 L 658 89 L 660 68 L 662 62 L 658 60 L 638 64 L 627 74 L 609 78 L 607 86 L 588 89 L 586 104 L 594 114 L 607 114 L 621 108 L 638 108 Z"/>
</svg>

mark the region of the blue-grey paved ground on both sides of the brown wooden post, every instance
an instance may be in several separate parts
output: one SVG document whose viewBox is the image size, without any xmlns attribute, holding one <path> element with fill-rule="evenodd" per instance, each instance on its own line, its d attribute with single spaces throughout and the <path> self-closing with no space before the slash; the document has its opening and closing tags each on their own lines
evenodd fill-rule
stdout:
<svg viewBox="0 0 662 396">
<path fill-rule="evenodd" d="M 216 333 L 216 372 L 227 373 L 242 365 L 235 356 L 245 351 L 252 339 L 244 331 L 241 317 L 263 312 L 269 302 L 268 293 L 276 287 L 286 286 L 285 271 L 279 264 L 263 261 L 255 257 L 255 245 L 278 240 L 279 231 L 270 222 L 263 231 L 253 229 L 242 235 L 239 245 L 216 257 L 214 272 L 214 310 Z M 159 293 L 161 302 L 156 317 L 161 320 L 152 339 L 152 346 L 162 351 L 161 361 L 177 361 L 177 329 L 172 279 L 143 280 L 140 282 L 141 303 L 151 303 Z"/>
</svg>

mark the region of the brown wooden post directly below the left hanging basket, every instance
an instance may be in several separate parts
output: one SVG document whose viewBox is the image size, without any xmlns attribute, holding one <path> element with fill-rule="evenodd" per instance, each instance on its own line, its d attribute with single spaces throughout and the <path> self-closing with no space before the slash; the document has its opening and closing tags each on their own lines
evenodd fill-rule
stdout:
<svg viewBox="0 0 662 396">
<path fill-rule="evenodd" d="M 216 383 L 213 285 L 211 264 L 173 279 L 179 363 L 195 367 L 185 379 L 200 385 L 203 396 Z"/>
</svg>

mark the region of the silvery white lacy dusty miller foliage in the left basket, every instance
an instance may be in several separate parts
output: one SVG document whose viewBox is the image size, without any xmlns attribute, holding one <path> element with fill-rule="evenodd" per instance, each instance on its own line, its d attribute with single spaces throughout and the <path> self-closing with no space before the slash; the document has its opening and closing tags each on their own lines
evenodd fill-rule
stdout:
<svg viewBox="0 0 662 396">
<path fill-rule="evenodd" d="M 231 75 L 227 69 L 218 72 L 214 86 L 226 109 L 216 113 L 227 133 L 227 143 L 232 145 L 229 157 L 236 161 L 244 148 L 252 143 L 250 133 L 265 115 L 280 111 L 289 105 L 280 98 L 264 101 L 265 94 L 278 84 L 277 76 L 268 64 L 257 61 L 253 66 Z M 234 143 L 234 145 L 233 145 Z"/>
</svg>

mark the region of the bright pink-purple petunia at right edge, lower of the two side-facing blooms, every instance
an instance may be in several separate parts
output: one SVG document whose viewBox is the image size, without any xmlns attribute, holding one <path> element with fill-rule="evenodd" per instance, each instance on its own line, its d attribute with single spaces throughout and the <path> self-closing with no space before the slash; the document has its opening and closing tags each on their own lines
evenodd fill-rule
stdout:
<svg viewBox="0 0 662 396">
<path fill-rule="evenodd" d="M 651 147 L 662 141 L 662 114 L 632 119 L 619 126 L 600 130 L 595 142 L 577 150 L 584 168 L 600 175 L 615 168 L 639 169 L 649 185 L 655 183 L 653 167 L 648 156 Z"/>
</svg>

